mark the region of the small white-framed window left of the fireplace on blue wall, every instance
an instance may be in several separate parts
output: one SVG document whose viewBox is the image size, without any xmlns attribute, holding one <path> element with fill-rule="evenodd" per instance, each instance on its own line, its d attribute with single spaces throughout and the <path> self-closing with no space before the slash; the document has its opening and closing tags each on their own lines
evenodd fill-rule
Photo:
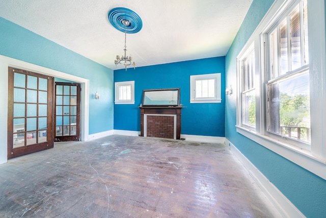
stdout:
<svg viewBox="0 0 326 218">
<path fill-rule="evenodd" d="M 115 104 L 134 104 L 134 81 L 115 82 Z"/>
</svg>

